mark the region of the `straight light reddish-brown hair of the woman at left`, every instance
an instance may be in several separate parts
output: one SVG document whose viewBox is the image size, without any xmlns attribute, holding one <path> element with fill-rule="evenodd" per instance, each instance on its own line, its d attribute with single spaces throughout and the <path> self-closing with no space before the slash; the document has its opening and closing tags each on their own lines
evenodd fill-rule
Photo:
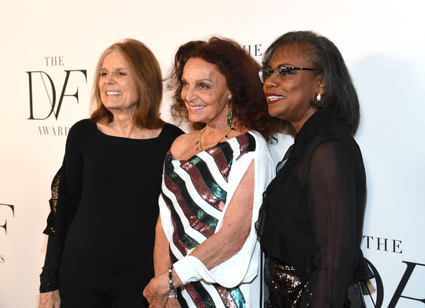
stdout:
<svg viewBox="0 0 425 308">
<path fill-rule="evenodd" d="M 91 120 L 94 122 L 113 122 L 113 114 L 106 109 L 101 101 L 99 78 L 101 66 L 105 57 L 111 52 L 119 52 L 128 62 L 132 77 L 135 78 L 139 101 L 133 121 L 137 126 L 147 129 L 159 129 L 164 122 L 159 118 L 159 108 L 162 101 L 162 74 L 157 58 L 152 51 L 139 40 L 125 39 L 106 48 L 98 60 L 94 73 L 93 93 L 91 105 L 94 111 Z"/>
</svg>

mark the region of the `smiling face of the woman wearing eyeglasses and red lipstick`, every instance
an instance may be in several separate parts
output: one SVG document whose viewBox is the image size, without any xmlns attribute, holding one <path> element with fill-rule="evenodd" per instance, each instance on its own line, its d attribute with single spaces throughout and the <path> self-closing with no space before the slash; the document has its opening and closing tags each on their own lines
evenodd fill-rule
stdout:
<svg viewBox="0 0 425 308">
<path fill-rule="evenodd" d="M 307 59 L 305 49 L 284 45 L 273 54 L 267 69 L 273 71 L 278 66 L 311 68 Z M 268 113 L 290 122 L 298 132 L 317 110 L 312 102 L 316 100 L 317 93 L 323 94 L 324 82 L 314 71 L 289 71 L 283 79 L 278 82 L 271 76 L 263 85 Z"/>
</svg>

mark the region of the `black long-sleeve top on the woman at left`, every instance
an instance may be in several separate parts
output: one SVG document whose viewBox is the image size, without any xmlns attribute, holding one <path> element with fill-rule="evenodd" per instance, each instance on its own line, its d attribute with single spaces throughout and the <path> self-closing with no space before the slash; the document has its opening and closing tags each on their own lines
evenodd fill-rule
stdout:
<svg viewBox="0 0 425 308">
<path fill-rule="evenodd" d="M 58 271 L 60 280 L 86 288 L 145 288 L 154 276 L 164 158 L 181 134 L 171 124 L 151 139 L 108 136 L 89 119 L 72 126 L 45 230 L 41 292 L 57 289 Z"/>
</svg>

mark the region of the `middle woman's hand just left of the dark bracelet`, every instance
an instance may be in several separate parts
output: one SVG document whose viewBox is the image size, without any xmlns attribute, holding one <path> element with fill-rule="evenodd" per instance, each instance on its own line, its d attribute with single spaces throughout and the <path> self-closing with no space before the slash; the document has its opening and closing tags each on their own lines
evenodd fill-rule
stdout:
<svg viewBox="0 0 425 308">
<path fill-rule="evenodd" d="M 143 290 L 143 295 L 147 298 L 150 308 L 163 308 L 166 305 L 170 294 L 168 273 L 163 273 L 150 280 Z"/>
</svg>

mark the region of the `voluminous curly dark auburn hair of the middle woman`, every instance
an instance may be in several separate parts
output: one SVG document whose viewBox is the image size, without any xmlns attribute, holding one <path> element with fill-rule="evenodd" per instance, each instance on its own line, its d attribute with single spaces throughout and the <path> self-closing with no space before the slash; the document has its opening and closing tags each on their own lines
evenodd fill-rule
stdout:
<svg viewBox="0 0 425 308">
<path fill-rule="evenodd" d="M 232 108 L 237 124 L 267 137 L 271 117 L 258 77 L 261 66 L 237 42 L 227 38 L 210 37 L 207 41 L 194 40 L 179 47 L 168 78 L 169 88 L 175 89 L 171 114 L 181 120 L 188 119 L 188 110 L 181 99 L 181 77 L 190 58 L 203 59 L 217 66 L 232 93 Z M 193 127 L 200 129 L 203 125 L 195 123 Z"/>
</svg>

